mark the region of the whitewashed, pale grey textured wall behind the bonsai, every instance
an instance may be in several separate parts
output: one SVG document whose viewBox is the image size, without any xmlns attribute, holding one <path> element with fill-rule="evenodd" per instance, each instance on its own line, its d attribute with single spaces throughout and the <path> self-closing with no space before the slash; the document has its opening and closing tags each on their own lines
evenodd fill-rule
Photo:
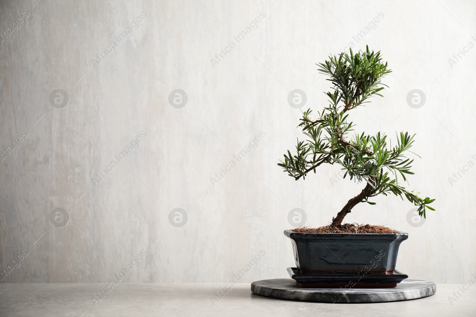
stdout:
<svg viewBox="0 0 476 317">
<path fill-rule="evenodd" d="M 407 222 L 412 205 L 395 197 L 359 205 L 346 221 L 408 232 L 397 268 L 411 278 L 461 283 L 476 272 L 476 168 L 448 180 L 476 163 L 474 2 L 36 1 L 0 4 L 0 32 L 11 31 L 0 44 L 0 151 L 28 134 L 0 163 L 0 269 L 11 268 L 3 282 L 106 283 L 141 250 L 147 256 L 127 282 L 225 283 L 260 250 L 242 281 L 286 277 L 288 212 L 302 208 L 308 225 L 325 225 L 362 188 L 332 183 L 337 166 L 295 182 L 276 165 L 300 135 L 288 93 L 302 89 L 305 108 L 322 109 L 329 82 L 314 64 L 350 42 L 381 50 L 394 71 L 384 98 L 352 111 L 357 131 L 416 133 L 422 159 L 410 188 L 438 198 L 418 228 Z M 266 17 L 238 43 L 260 12 Z M 50 103 L 56 89 L 69 95 L 64 108 Z M 174 89 L 187 93 L 185 107 L 169 104 Z M 425 93 L 424 106 L 407 104 L 412 89 Z M 260 131 L 266 136 L 238 162 L 233 155 Z M 119 162 L 141 132 L 139 148 Z M 94 183 L 102 168 L 112 172 Z M 69 215 L 64 227 L 50 220 L 56 208 Z M 174 208 L 187 212 L 185 226 L 169 223 Z"/>
</svg>

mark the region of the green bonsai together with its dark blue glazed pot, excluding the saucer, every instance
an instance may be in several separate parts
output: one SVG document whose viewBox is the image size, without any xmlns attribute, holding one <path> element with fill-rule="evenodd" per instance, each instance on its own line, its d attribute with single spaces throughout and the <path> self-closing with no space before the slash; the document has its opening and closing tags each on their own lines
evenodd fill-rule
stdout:
<svg viewBox="0 0 476 317">
<path fill-rule="evenodd" d="M 423 198 L 407 190 L 399 180 L 407 181 L 411 163 L 405 155 L 414 143 L 414 136 L 401 132 L 396 145 L 388 147 L 387 135 L 365 133 L 348 136 L 354 125 L 347 118 L 351 110 L 364 106 L 371 96 L 382 96 L 382 77 L 391 70 L 380 52 L 367 50 L 353 54 L 329 56 L 325 63 L 316 64 L 329 76 L 332 91 L 327 92 L 329 105 L 317 116 L 312 110 L 303 112 L 298 127 L 307 139 L 297 140 L 296 154 L 284 154 L 278 163 L 295 180 L 305 179 L 324 163 L 337 164 L 347 176 L 364 187 L 337 212 L 332 223 L 320 228 L 300 227 L 284 231 L 292 241 L 297 271 L 300 274 L 336 274 L 364 272 L 393 274 L 400 243 L 408 238 L 405 232 L 387 227 L 342 223 L 358 203 L 375 205 L 377 195 L 394 194 L 407 198 L 418 206 L 426 218 L 426 208 L 434 199 Z"/>
</svg>

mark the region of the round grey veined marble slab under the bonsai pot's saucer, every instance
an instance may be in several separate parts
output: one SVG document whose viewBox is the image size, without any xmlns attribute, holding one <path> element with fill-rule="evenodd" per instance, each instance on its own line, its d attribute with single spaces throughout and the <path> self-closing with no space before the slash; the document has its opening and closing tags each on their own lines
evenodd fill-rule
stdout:
<svg viewBox="0 0 476 317">
<path fill-rule="evenodd" d="M 258 295 L 335 303 L 371 303 L 422 298 L 436 293 L 436 284 L 407 279 L 395 288 L 301 288 L 294 279 L 264 279 L 251 283 Z"/>
</svg>

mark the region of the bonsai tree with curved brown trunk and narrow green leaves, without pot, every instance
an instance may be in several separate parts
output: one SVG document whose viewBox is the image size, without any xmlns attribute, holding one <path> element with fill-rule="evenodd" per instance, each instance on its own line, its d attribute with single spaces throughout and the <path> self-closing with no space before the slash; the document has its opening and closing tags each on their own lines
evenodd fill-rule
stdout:
<svg viewBox="0 0 476 317">
<path fill-rule="evenodd" d="M 355 197 L 349 199 L 337 216 L 332 219 L 331 226 L 340 228 L 344 217 L 352 211 L 359 202 L 370 202 L 371 197 L 379 194 L 395 194 L 407 198 L 418 206 L 418 214 L 426 218 L 426 208 L 435 201 L 420 196 L 418 192 L 407 190 L 398 182 L 401 175 L 407 181 L 406 174 L 410 172 L 411 163 L 405 156 L 412 147 L 415 136 L 400 132 L 397 144 L 387 148 L 387 135 L 378 132 L 376 135 L 354 134 L 348 137 L 354 125 L 347 122 L 348 112 L 358 106 L 365 106 L 371 96 L 380 95 L 384 89 L 381 78 L 391 72 L 387 62 L 380 58 L 380 52 L 370 52 L 367 46 L 365 52 L 357 54 L 341 53 L 337 57 L 329 56 L 325 63 L 316 64 L 323 74 L 328 75 L 333 91 L 327 92 L 329 106 L 325 107 L 316 118 L 311 118 L 312 110 L 303 112 L 301 123 L 307 140 L 297 140 L 296 154 L 288 151 L 284 161 L 278 163 L 284 172 L 296 180 L 306 178 L 307 173 L 316 173 L 316 168 L 323 163 L 339 164 L 345 170 L 344 178 L 348 175 L 357 183 L 366 183 L 364 189 Z M 412 152 L 413 153 L 413 152 Z M 418 155 L 417 155 L 418 156 Z"/>
</svg>

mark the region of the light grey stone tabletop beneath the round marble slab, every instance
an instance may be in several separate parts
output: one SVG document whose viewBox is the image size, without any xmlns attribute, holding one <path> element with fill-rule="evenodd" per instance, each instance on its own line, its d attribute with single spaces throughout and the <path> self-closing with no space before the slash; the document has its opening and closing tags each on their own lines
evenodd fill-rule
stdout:
<svg viewBox="0 0 476 317">
<path fill-rule="evenodd" d="M 119 284 L 101 300 L 105 284 L 0 284 L 0 316 L 264 316 L 264 317 L 475 317 L 476 288 L 450 303 L 462 285 L 437 284 L 436 294 L 419 299 L 332 304 L 257 296 L 249 283 L 235 285 L 219 300 L 226 284 Z M 98 297 L 96 297 L 98 298 Z M 455 298 L 455 297 L 454 297 Z M 215 299 L 215 300 L 213 300 Z"/>
</svg>

